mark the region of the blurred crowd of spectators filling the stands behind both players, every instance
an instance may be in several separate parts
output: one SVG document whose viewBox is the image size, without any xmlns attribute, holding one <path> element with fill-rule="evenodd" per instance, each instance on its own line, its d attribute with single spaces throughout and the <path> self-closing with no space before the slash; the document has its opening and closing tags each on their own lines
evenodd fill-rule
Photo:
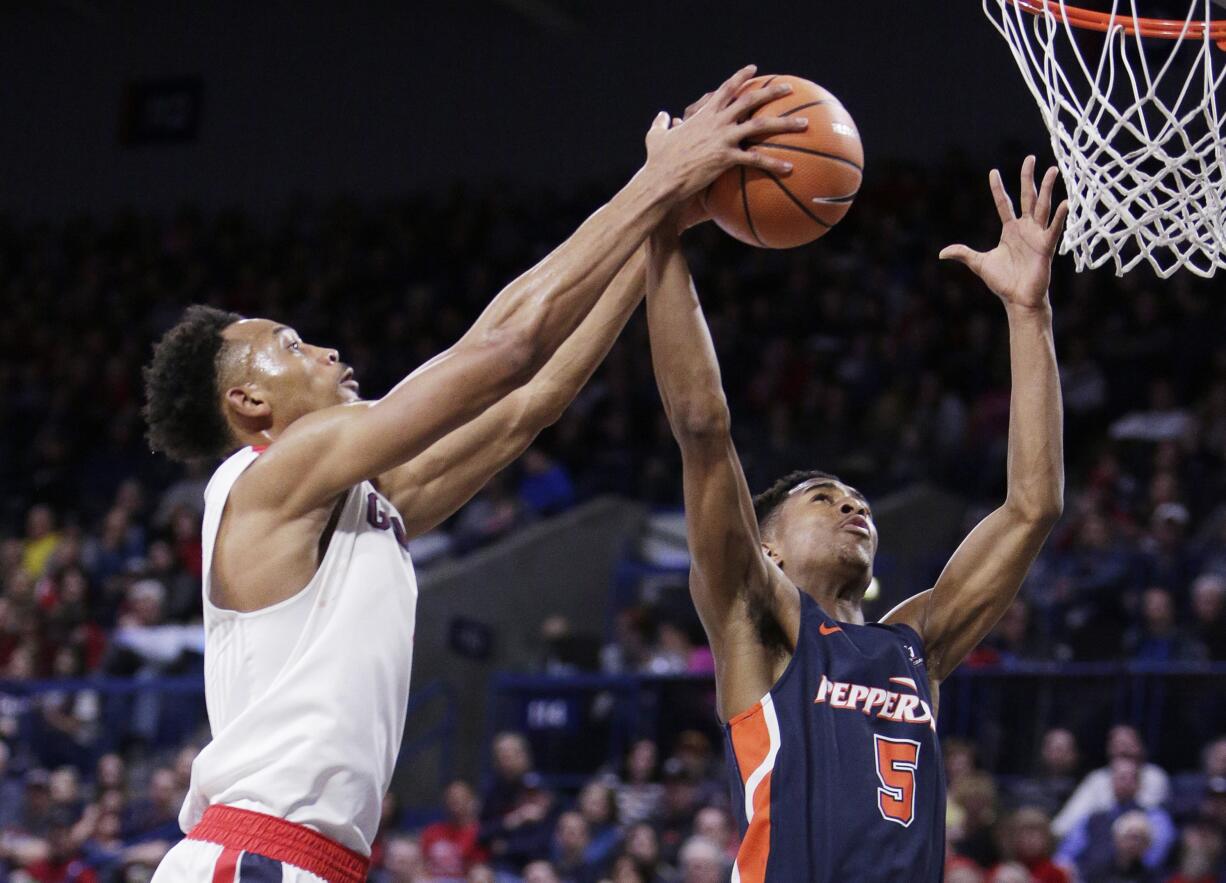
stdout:
<svg viewBox="0 0 1226 883">
<path fill-rule="evenodd" d="M 749 249 L 710 224 L 690 234 L 753 488 L 821 467 L 870 497 L 929 482 L 977 508 L 999 499 L 1004 318 L 969 273 L 935 260 L 950 242 L 994 242 L 983 172 L 958 157 L 881 166 L 826 242 L 794 251 Z M 139 413 L 140 367 L 184 307 L 293 324 L 337 346 L 378 395 L 455 341 L 608 191 L 487 186 L 378 205 L 303 200 L 259 218 L 183 208 L 0 221 L 0 679 L 200 670 L 211 467 L 151 455 Z M 1052 300 L 1065 515 L 969 665 L 1224 661 L 1226 302 L 1187 273 L 1074 275 L 1063 260 Z M 462 556 L 600 493 L 678 505 L 678 453 L 646 352 L 640 315 L 562 421 L 418 538 L 414 558 Z M 658 613 L 625 610 L 585 666 L 710 672 L 693 622 Z M 177 752 L 199 721 L 175 728 L 167 706 L 141 703 L 115 717 L 75 683 L 37 698 L 0 690 L 0 857 L 40 882 L 141 879 L 175 836 L 190 749 Z M 1025 787 L 981 771 L 970 751 L 948 752 L 964 764 L 949 776 L 949 879 L 1219 879 L 1221 742 L 1195 774 L 1167 775 L 1139 747 L 1108 751 L 1085 780 L 1095 801 L 1078 803 L 1078 747 L 1048 736 Z M 526 746 L 499 740 L 493 784 L 455 784 L 441 827 L 389 835 L 379 879 L 726 879 L 736 835 L 717 758 L 707 751 L 699 770 L 678 747 L 662 753 L 640 743 L 624 769 L 562 795 L 533 776 Z M 1176 787 L 1177 773 L 1199 785 Z M 1069 806 L 1081 807 L 1075 823 Z"/>
</svg>

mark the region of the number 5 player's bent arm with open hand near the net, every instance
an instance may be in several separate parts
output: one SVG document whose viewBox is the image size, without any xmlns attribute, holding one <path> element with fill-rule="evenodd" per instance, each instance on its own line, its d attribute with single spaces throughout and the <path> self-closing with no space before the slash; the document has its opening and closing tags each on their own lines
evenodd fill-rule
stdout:
<svg viewBox="0 0 1226 883">
<path fill-rule="evenodd" d="M 1034 173 L 1035 158 L 1027 157 L 1018 217 L 1000 174 L 992 172 L 992 195 L 1003 224 L 994 249 L 978 253 L 950 245 L 940 253 L 969 266 L 1004 303 L 1013 390 L 1004 504 L 962 541 L 932 590 L 885 617 L 920 633 L 937 682 L 958 667 L 1013 603 L 1063 508 L 1063 412 L 1047 287 L 1068 206 L 1060 204 L 1048 222 L 1056 169 L 1048 169 L 1037 195 Z"/>
</svg>

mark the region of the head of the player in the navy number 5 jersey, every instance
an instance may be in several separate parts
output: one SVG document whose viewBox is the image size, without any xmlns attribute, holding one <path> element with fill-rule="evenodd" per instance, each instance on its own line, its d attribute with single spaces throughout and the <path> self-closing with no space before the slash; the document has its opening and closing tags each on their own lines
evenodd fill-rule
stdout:
<svg viewBox="0 0 1226 883">
<path fill-rule="evenodd" d="M 772 547 L 793 579 L 831 569 L 863 571 L 868 587 L 877 554 L 877 525 L 863 494 L 830 478 L 797 484 L 780 506 Z"/>
</svg>

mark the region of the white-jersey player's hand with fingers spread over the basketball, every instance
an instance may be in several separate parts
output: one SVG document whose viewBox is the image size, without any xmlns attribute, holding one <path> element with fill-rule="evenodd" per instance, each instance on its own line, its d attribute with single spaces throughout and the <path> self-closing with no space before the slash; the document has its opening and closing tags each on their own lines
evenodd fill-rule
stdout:
<svg viewBox="0 0 1226 883">
<path fill-rule="evenodd" d="M 796 117 L 747 119 L 763 104 L 791 91 L 791 86 L 782 83 L 738 96 L 754 71 L 753 65 L 737 71 L 680 123 L 669 125 L 672 118 L 663 110 L 656 115 L 647 130 L 646 170 L 666 180 L 678 200 L 699 193 L 738 163 L 776 175 L 786 175 L 792 169 L 786 159 L 742 146 L 749 139 L 801 131 L 808 125 L 805 119 Z"/>
</svg>

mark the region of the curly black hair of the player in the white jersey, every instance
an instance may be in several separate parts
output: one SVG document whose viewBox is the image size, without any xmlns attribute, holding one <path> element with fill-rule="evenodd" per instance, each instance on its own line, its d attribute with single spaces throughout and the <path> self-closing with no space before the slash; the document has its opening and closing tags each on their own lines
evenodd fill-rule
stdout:
<svg viewBox="0 0 1226 883">
<path fill-rule="evenodd" d="M 218 402 L 222 331 L 237 313 L 189 307 L 179 323 L 153 346 L 145 365 L 145 422 L 154 451 L 172 460 L 216 460 L 235 445 Z"/>
</svg>

